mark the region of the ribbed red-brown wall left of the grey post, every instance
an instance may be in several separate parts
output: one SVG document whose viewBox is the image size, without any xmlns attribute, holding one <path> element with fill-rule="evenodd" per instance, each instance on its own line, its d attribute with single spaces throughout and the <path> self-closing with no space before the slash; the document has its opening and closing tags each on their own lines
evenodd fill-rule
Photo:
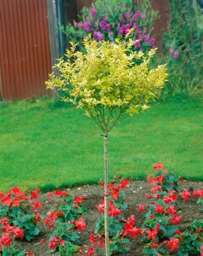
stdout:
<svg viewBox="0 0 203 256">
<path fill-rule="evenodd" d="M 0 0 L 2 99 L 45 96 L 50 72 L 46 0 Z"/>
</svg>

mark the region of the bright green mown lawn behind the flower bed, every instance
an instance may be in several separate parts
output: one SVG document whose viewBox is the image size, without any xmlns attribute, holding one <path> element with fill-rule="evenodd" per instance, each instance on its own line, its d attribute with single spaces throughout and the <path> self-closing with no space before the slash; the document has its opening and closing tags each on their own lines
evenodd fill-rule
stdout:
<svg viewBox="0 0 203 256">
<path fill-rule="evenodd" d="M 168 101 L 121 119 L 109 136 L 113 175 L 142 179 L 157 161 L 203 180 L 203 102 Z M 51 99 L 0 103 L 0 190 L 54 189 L 103 178 L 103 137 L 79 110 Z"/>
</svg>

